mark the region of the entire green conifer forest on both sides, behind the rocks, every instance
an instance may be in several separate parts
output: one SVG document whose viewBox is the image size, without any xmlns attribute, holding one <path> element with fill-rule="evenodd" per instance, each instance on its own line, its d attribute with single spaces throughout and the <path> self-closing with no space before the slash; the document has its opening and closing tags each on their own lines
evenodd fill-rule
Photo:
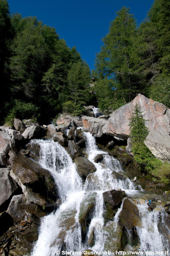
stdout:
<svg viewBox="0 0 170 256">
<path fill-rule="evenodd" d="M 123 6 L 102 41 L 90 74 L 54 28 L 36 17 L 11 16 L 0 0 L 0 122 L 48 124 L 62 111 L 83 114 L 88 104 L 108 113 L 138 93 L 170 107 L 170 1 L 155 0 L 140 26 Z"/>
</svg>

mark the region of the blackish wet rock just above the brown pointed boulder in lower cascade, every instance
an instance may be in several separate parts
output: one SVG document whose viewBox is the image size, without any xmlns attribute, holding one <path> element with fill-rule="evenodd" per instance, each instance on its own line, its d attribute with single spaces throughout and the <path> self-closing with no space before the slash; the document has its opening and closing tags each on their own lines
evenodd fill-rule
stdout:
<svg viewBox="0 0 170 256">
<path fill-rule="evenodd" d="M 119 207 L 124 197 L 125 191 L 122 190 L 113 189 L 103 193 L 103 200 L 105 204 L 109 204 L 110 209 Z"/>
</svg>

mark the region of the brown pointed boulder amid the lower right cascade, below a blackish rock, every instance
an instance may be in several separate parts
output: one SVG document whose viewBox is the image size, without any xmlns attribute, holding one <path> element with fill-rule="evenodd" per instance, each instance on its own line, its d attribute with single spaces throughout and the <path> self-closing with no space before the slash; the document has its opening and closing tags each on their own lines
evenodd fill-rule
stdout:
<svg viewBox="0 0 170 256">
<path fill-rule="evenodd" d="M 131 230 L 133 227 L 142 227 L 138 207 L 128 198 L 124 199 L 122 211 L 119 214 L 119 221 L 128 230 Z"/>
</svg>

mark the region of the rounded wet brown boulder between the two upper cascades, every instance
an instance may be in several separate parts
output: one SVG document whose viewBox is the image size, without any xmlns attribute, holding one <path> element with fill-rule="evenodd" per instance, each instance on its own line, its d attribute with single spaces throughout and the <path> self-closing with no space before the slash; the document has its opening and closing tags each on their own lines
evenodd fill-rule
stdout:
<svg viewBox="0 0 170 256">
<path fill-rule="evenodd" d="M 88 174 L 96 171 L 96 167 L 85 156 L 78 156 L 73 161 L 76 164 L 76 170 L 80 177 L 86 179 Z"/>
</svg>

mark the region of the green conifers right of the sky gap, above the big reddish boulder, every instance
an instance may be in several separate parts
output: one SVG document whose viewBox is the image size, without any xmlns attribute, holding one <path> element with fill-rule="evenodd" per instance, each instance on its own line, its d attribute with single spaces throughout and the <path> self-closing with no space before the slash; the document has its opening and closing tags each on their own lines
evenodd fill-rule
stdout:
<svg viewBox="0 0 170 256">
<path fill-rule="evenodd" d="M 170 1 L 155 0 L 140 26 L 122 7 L 102 41 L 93 74 L 101 110 L 111 112 L 138 93 L 170 107 Z"/>
</svg>

